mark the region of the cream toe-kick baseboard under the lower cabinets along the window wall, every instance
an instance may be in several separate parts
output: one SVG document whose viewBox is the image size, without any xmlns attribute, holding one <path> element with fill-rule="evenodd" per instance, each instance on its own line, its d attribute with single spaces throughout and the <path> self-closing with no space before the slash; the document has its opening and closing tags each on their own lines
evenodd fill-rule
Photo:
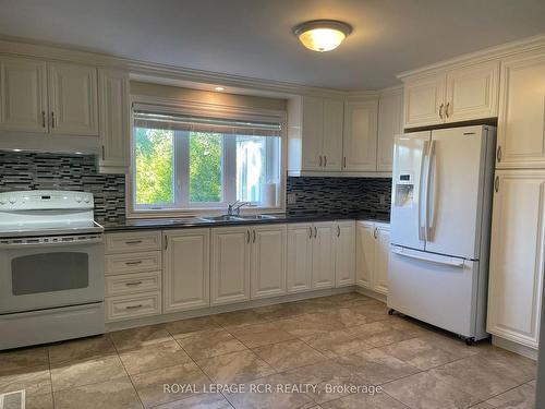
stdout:
<svg viewBox="0 0 545 409">
<path fill-rule="evenodd" d="M 209 306 L 209 308 L 204 308 L 204 309 L 198 309 L 198 310 L 191 310 L 191 311 L 183 311 L 183 312 L 177 312 L 177 313 L 170 313 L 170 314 L 146 316 L 146 317 L 136 318 L 136 320 L 111 322 L 111 323 L 106 324 L 106 330 L 110 333 L 113 330 L 135 328 L 135 327 L 144 326 L 144 325 L 162 324 L 162 323 L 169 323 L 171 321 L 194 318 L 197 316 L 220 314 L 223 312 L 231 312 L 231 311 L 239 311 L 239 310 L 247 310 L 247 309 L 253 309 L 253 308 L 257 308 L 257 306 L 281 304 L 283 302 L 300 301 L 300 300 L 306 300 L 306 299 L 312 299 L 312 298 L 317 298 L 317 297 L 327 297 L 327 296 L 334 296 L 334 294 L 339 294 L 339 293 L 344 293 L 344 292 L 353 292 L 353 291 L 356 291 L 355 286 L 348 286 L 348 287 L 341 287 L 341 288 L 329 288 L 329 289 L 324 289 L 324 290 L 305 291 L 305 292 L 295 292 L 295 293 L 291 293 L 291 294 L 287 294 L 287 296 L 265 298 L 265 299 L 259 299 L 259 300 L 250 300 L 250 301 L 244 301 L 244 302 L 238 302 L 234 304 L 217 305 L 217 306 Z"/>
</svg>

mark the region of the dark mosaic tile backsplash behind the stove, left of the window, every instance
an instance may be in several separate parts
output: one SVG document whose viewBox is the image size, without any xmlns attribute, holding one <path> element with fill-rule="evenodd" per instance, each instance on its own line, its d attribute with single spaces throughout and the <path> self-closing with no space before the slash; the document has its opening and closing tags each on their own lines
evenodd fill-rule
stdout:
<svg viewBox="0 0 545 409">
<path fill-rule="evenodd" d="M 98 222 L 125 217 L 125 177 L 98 173 L 95 156 L 0 152 L 0 192 L 37 189 L 93 193 Z"/>
</svg>

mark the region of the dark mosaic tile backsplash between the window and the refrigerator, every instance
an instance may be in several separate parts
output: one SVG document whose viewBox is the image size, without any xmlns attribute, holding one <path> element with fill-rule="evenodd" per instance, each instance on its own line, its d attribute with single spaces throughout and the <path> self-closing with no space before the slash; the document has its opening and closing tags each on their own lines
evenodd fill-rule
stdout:
<svg viewBox="0 0 545 409">
<path fill-rule="evenodd" d="M 389 178 L 288 178 L 287 212 L 290 216 L 308 213 L 367 213 L 389 218 L 391 179 Z M 290 203 L 294 195 L 295 203 Z M 380 197 L 384 203 L 380 203 Z"/>
</svg>

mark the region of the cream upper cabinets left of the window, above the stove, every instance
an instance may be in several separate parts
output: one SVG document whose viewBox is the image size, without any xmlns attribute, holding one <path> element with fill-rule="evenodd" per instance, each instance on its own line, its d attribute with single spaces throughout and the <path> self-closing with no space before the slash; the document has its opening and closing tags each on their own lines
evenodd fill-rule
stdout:
<svg viewBox="0 0 545 409">
<path fill-rule="evenodd" d="M 124 173 L 130 118 L 126 71 L 0 56 L 0 131 L 98 136 L 99 171 Z"/>
</svg>

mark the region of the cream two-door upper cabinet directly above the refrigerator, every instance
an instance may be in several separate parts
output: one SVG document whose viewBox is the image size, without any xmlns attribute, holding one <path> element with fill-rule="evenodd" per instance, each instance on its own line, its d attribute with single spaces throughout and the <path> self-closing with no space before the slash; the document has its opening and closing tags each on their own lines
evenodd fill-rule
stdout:
<svg viewBox="0 0 545 409">
<path fill-rule="evenodd" d="M 499 62 L 404 80 L 404 128 L 497 117 Z"/>
</svg>

